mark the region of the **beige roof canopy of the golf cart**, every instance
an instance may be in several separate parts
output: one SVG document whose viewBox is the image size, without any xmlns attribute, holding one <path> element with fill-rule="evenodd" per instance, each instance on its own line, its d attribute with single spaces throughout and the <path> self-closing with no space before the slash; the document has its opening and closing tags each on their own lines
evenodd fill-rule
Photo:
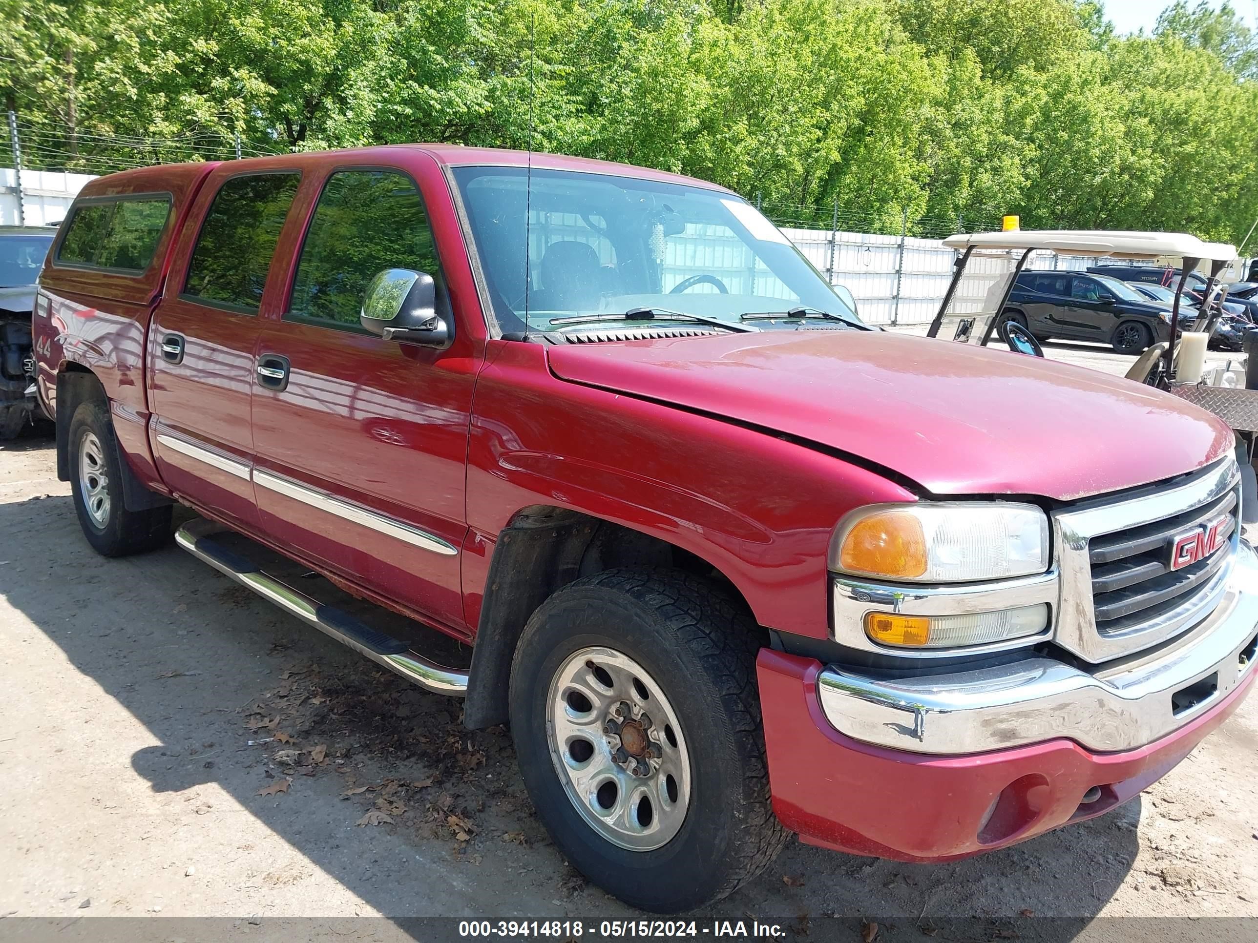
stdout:
<svg viewBox="0 0 1258 943">
<path fill-rule="evenodd" d="M 1175 255 L 1232 262 L 1237 248 L 1203 243 L 1188 233 L 1127 233 L 1103 229 L 1014 229 L 1008 233 L 962 233 L 944 240 L 950 249 L 1052 249 L 1069 255 L 1111 255 L 1116 259 L 1156 259 Z"/>
</svg>

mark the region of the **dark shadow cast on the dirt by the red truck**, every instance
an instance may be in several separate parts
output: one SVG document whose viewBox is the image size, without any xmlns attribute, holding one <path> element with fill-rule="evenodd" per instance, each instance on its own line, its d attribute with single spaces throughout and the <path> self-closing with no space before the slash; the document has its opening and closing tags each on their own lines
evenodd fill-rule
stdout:
<svg viewBox="0 0 1258 943">
<path fill-rule="evenodd" d="M 391 917 L 640 915 L 567 868 L 532 817 L 509 736 L 463 731 L 458 700 L 380 671 L 174 546 L 97 557 L 68 497 L 0 503 L 0 533 L 24 548 L 20 566 L 0 567 L 0 592 L 160 741 L 113 758 L 155 792 L 215 783 Z M 279 734 L 293 742 L 248 746 Z M 316 757 L 318 744 L 326 753 Z M 289 780 L 289 793 L 259 796 Z M 894 782 L 871 788 L 891 813 L 912 801 Z M 392 824 L 352 827 L 372 811 Z M 755 915 L 796 933 L 830 915 L 857 933 L 868 918 L 881 922 L 881 939 L 917 939 L 950 918 L 977 920 L 991 930 L 985 939 L 1016 933 L 1030 913 L 1083 925 L 1131 869 L 1138 816 L 1133 802 L 938 866 L 793 842 L 752 884 L 694 917 Z"/>
</svg>

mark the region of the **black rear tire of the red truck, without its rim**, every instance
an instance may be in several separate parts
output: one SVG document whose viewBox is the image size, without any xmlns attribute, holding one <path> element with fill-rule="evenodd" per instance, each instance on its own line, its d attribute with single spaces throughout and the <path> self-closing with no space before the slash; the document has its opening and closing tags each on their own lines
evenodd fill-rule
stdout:
<svg viewBox="0 0 1258 943">
<path fill-rule="evenodd" d="M 91 436 L 91 439 L 89 439 Z M 88 509 L 88 487 L 83 480 L 83 451 L 91 450 L 103 473 L 103 495 L 107 502 L 101 510 Z M 79 527 L 92 548 L 104 557 L 125 557 L 160 547 L 170 539 L 171 507 L 167 504 L 147 510 L 127 510 L 122 497 L 122 469 L 118 468 L 118 450 L 113 438 L 109 410 L 101 400 L 79 404 L 70 419 L 69 430 L 70 493 Z M 99 495 L 97 495 L 99 497 Z"/>
</svg>

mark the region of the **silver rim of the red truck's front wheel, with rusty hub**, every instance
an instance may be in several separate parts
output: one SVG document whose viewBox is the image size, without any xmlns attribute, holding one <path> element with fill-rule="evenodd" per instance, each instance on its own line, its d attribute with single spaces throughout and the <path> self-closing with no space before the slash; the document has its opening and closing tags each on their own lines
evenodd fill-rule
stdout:
<svg viewBox="0 0 1258 943">
<path fill-rule="evenodd" d="M 681 831 L 691 801 L 686 737 L 632 658 L 601 646 L 569 655 L 546 697 L 546 738 L 572 806 L 613 845 L 653 851 Z"/>
</svg>

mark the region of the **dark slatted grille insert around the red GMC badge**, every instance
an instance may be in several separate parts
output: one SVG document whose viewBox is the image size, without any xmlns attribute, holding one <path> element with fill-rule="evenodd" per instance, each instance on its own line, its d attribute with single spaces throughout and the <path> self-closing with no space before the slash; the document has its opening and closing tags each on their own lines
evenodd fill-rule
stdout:
<svg viewBox="0 0 1258 943">
<path fill-rule="evenodd" d="M 1183 513 L 1092 538 L 1092 605 L 1097 632 L 1127 635 L 1208 591 L 1210 577 L 1232 556 L 1232 534 L 1239 526 L 1237 493 L 1229 492 Z M 1203 560 L 1171 570 L 1172 543 L 1224 518 L 1218 546 Z"/>
</svg>

